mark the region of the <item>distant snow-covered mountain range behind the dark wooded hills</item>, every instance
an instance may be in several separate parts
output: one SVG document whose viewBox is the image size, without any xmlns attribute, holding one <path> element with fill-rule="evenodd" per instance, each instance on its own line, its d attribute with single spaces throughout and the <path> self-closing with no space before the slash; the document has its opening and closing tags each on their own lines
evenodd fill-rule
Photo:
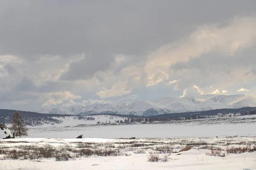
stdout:
<svg viewBox="0 0 256 170">
<path fill-rule="evenodd" d="M 166 97 L 157 100 L 122 102 L 119 104 L 73 104 L 53 109 L 37 109 L 38 113 L 90 115 L 98 113 L 152 116 L 164 113 L 207 111 L 222 108 L 256 107 L 256 98 L 245 94 L 209 94 L 185 97 Z"/>
</svg>

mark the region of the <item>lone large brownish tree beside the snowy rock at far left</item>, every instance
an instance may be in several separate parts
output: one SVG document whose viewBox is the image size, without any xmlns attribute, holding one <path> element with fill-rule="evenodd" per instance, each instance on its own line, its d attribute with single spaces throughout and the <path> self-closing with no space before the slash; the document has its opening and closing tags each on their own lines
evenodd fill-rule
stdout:
<svg viewBox="0 0 256 170">
<path fill-rule="evenodd" d="M 16 136 L 28 135 L 28 128 L 24 125 L 24 120 L 18 111 L 16 111 L 12 116 L 11 130 L 15 133 Z"/>
</svg>

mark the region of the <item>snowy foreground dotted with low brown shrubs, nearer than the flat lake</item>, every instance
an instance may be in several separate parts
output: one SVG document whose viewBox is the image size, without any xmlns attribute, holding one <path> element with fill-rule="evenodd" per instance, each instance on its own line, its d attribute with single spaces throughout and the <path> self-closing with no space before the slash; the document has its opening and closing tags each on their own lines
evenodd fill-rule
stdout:
<svg viewBox="0 0 256 170">
<path fill-rule="evenodd" d="M 1 170 L 254 170 L 256 152 L 227 153 L 227 148 L 253 148 L 256 136 L 224 136 L 205 138 L 152 138 L 152 139 L 61 139 L 20 138 L 0 140 Z M 185 147 L 187 151 L 178 152 Z M 14 159 L 6 150 L 38 152 L 49 158 Z M 33 152 L 34 150 L 34 152 Z M 91 150 L 91 155 L 88 151 Z M 209 156 L 220 150 L 224 157 Z M 47 153 L 49 151 L 49 153 Z M 107 152 L 106 155 L 101 154 Z M 41 153 L 42 152 L 42 153 Z M 69 153 L 67 161 L 57 161 L 58 152 Z M 21 154 L 21 153 L 20 153 Z M 21 154 L 22 155 L 22 154 Z M 148 161 L 159 156 L 158 161 Z M 166 158 L 166 159 L 164 159 Z"/>
</svg>

